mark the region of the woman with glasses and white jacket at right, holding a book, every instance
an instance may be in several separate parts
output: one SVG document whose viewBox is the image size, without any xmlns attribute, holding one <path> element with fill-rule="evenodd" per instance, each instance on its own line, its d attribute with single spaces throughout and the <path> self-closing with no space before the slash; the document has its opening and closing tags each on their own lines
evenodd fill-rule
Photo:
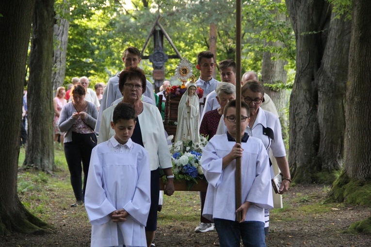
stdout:
<svg viewBox="0 0 371 247">
<path fill-rule="evenodd" d="M 261 104 L 264 99 L 264 88 L 256 81 L 248 81 L 241 88 L 241 98 L 250 108 L 250 122 L 246 128 L 246 132 L 253 137 L 259 138 L 269 153 L 272 150 L 273 156 L 281 170 L 283 181 L 279 190 L 279 194 L 285 193 L 289 189 L 290 184 L 290 169 L 286 159 L 285 145 L 282 139 L 281 124 L 276 115 L 271 112 L 261 109 Z M 226 127 L 219 124 L 217 134 L 226 133 Z M 271 177 L 274 177 L 273 168 L 271 166 Z M 265 232 L 268 234 L 269 227 L 269 211 L 266 210 Z"/>
</svg>

